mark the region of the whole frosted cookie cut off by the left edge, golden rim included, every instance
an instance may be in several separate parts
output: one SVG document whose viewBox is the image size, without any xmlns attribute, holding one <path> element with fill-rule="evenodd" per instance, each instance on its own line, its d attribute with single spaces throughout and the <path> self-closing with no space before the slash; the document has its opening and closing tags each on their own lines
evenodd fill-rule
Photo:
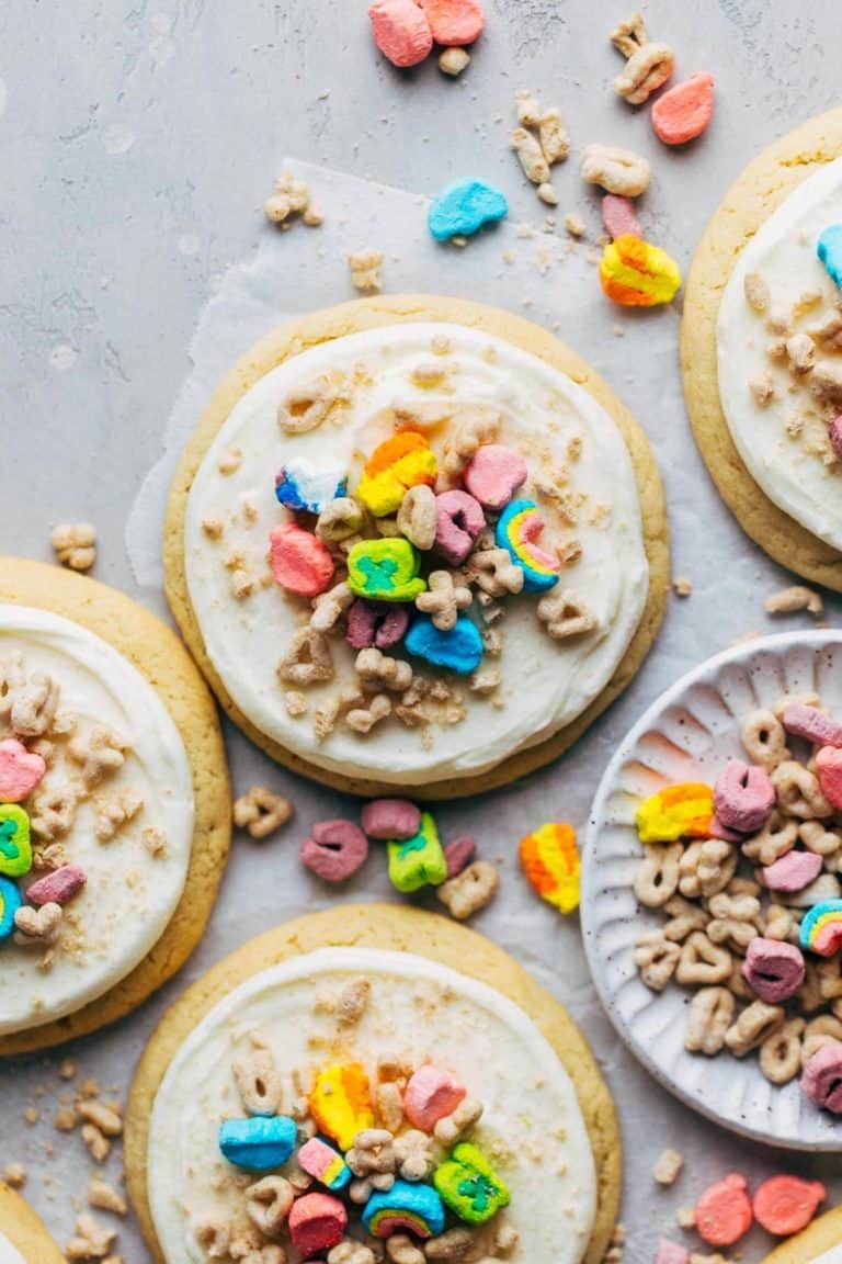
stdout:
<svg viewBox="0 0 842 1264">
<path fill-rule="evenodd" d="M 228 834 L 213 704 L 175 637 L 110 588 L 0 559 L 0 1054 L 174 973 Z"/>
</svg>

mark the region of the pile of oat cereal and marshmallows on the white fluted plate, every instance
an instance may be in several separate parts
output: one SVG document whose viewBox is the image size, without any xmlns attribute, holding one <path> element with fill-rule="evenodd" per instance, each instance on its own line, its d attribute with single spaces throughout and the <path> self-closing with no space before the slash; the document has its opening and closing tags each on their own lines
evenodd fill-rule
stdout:
<svg viewBox="0 0 842 1264">
<path fill-rule="evenodd" d="M 668 785 L 637 806 L 635 894 L 665 921 L 635 962 L 654 991 L 693 991 L 691 1052 L 756 1054 L 771 1083 L 800 1077 L 813 1103 L 842 1114 L 842 728 L 819 698 L 785 696 L 741 732 L 745 758 L 713 785 Z M 732 1207 L 735 1189 L 722 1191 Z"/>
</svg>

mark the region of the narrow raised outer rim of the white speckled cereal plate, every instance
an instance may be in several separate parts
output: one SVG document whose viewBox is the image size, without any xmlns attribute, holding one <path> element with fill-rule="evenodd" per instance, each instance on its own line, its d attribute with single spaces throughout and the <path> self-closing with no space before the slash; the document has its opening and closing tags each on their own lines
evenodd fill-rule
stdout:
<svg viewBox="0 0 842 1264">
<path fill-rule="evenodd" d="M 706 1106 L 704 1101 L 694 1097 L 692 1092 L 684 1088 L 675 1076 L 664 1069 L 664 1067 L 660 1066 L 651 1055 L 648 1045 L 639 1040 L 637 1035 L 631 1030 L 625 1018 L 615 1006 L 615 997 L 606 977 L 603 976 L 602 962 L 597 953 L 596 945 L 598 927 L 593 924 L 593 918 L 590 911 L 596 906 L 597 900 L 597 892 L 595 891 L 597 872 L 595 858 L 597 854 L 597 833 L 605 817 L 606 800 L 616 787 L 619 771 L 627 761 L 629 756 L 632 753 L 637 742 L 646 733 L 646 731 L 656 727 L 656 723 L 663 713 L 679 702 L 693 685 L 709 680 L 711 676 L 715 676 L 726 665 L 742 664 L 759 653 L 769 651 L 785 652 L 797 647 L 821 648 L 829 645 L 842 646 L 842 628 L 813 628 L 798 632 L 776 632 L 770 633 L 769 636 L 756 637 L 752 641 L 746 641 L 737 646 L 730 646 L 726 650 L 721 650 L 718 653 L 712 655 L 709 659 L 704 659 L 703 662 L 698 664 L 696 667 L 691 667 L 689 671 L 679 676 L 678 680 L 675 680 L 668 689 L 655 698 L 655 700 L 646 708 L 643 715 L 640 715 L 640 718 L 631 726 L 625 737 L 620 741 L 620 744 L 611 756 L 611 760 L 600 779 L 600 784 L 591 804 L 584 848 L 582 852 L 581 923 L 584 954 L 600 1002 L 602 1004 L 608 1020 L 621 1038 L 622 1043 L 634 1054 L 637 1062 L 649 1072 L 653 1079 L 661 1086 L 661 1088 L 665 1088 L 669 1093 L 677 1097 L 687 1107 L 696 1111 L 698 1115 L 718 1124 L 720 1127 L 736 1133 L 738 1136 L 761 1141 L 764 1145 L 775 1148 L 838 1154 L 842 1153 L 842 1126 L 839 1127 L 839 1136 L 836 1141 L 826 1138 L 815 1139 L 775 1135 L 764 1129 L 752 1127 L 750 1124 L 741 1120 L 725 1116 L 717 1112 L 713 1107 Z M 749 1064 L 742 1063 L 742 1066 L 745 1067 Z M 757 1071 L 756 1074 L 760 1077 L 760 1071 Z"/>
</svg>

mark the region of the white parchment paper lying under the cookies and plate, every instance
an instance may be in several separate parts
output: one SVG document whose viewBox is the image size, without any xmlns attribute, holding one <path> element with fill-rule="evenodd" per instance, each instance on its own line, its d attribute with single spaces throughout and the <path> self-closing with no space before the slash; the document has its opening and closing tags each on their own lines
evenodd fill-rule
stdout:
<svg viewBox="0 0 842 1264">
<path fill-rule="evenodd" d="M 578 919 L 562 919 L 543 905 L 525 884 L 516 862 L 519 838 L 544 820 L 564 819 L 584 827 L 600 774 L 617 739 L 641 709 L 677 675 L 702 657 L 752 631 L 780 628 L 762 612 L 762 598 L 789 580 L 740 532 L 721 506 L 689 435 L 682 404 L 677 365 L 674 308 L 635 313 L 612 308 L 596 276 L 593 243 L 601 233 L 597 201 L 582 205 L 587 241 L 576 244 L 562 226 L 547 221 L 548 210 L 535 201 L 530 222 L 510 220 L 483 233 L 467 248 L 441 246 L 425 226 L 427 201 L 409 192 L 290 163 L 321 202 L 321 229 L 295 224 L 288 233 L 266 228 L 256 253 L 221 279 L 201 315 L 191 348 L 192 372 L 183 383 L 164 439 L 164 453 L 131 508 L 126 547 L 140 595 L 160 607 L 160 522 L 169 478 L 181 446 L 215 384 L 251 343 L 287 316 L 312 311 L 353 297 L 345 255 L 376 246 L 385 252 L 384 289 L 460 295 L 507 307 L 557 330 L 602 373 L 636 413 L 661 465 L 669 497 L 674 574 L 693 583 L 689 599 L 670 602 L 656 651 L 632 688 L 591 729 L 578 747 L 544 772 L 509 790 L 473 801 L 442 806 L 436 813 L 444 838 L 457 832 L 476 836 L 482 856 L 500 862 L 502 885 L 496 902 L 473 925 L 491 935 L 564 1001 L 583 1025 L 616 1095 L 626 1145 L 626 1201 L 629 1231 L 626 1259 L 644 1264 L 654 1258 L 661 1234 L 687 1240 L 674 1224 L 677 1207 L 726 1170 L 754 1178 L 775 1170 L 822 1172 L 839 1164 L 785 1155 L 751 1146 L 696 1117 L 659 1090 L 626 1053 L 601 1012 L 590 983 Z M 675 249 L 663 224 L 644 211 L 644 228 L 668 249 Z M 689 243 L 683 243 L 684 254 Z M 838 603 L 832 602 L 832 614 Z M 809 623 L 807 616 L 786 627 Z M 122 1091 L 131 1067 L 155 1020 L 189 980 L 245 939 L 307 909 L 342 900 L 391 900 L 385 858 L 372 854 L 357 877 L 335 892 L 312 878 L 298 863 L 297 847 L 312 822 L 356 811 L 356 803 L 329 790 L 298 781 L 276 769 L 239 733 L 227 729 L 235 789 L 265 782 L 288 794 L 297 805 L 290 825 L 265 843 L 239 837 L 222 894 L 201 948 L 157 997 L 116 1029 L 83 1042 L 69 1053 L 82 1072 Z M 434 899 L 422 904 L 436 906 Z M 337 909 L 337 916 L 341 910 Z M 14 1067 L 15 1100 L 0 1101 L 4 1153 L 33 1168 L 28 1196 L 48 1217 L 57 1234 L 71 1231 L 68 1194 L 85 1184 L 86 1155 L 78 1135 L 57 1138 L 49 1120 L 56 1093 L 67 1086 L 57 1077 L 61 1055 L 24 1059 Z M 6 1076 L 13 1072 L 5 1072 Z M 38 1098 L 39 1090 L 44 1096 Z M 27 1105 L 42 1111 L 42 1121 L 21 1122 Z M 61 1140 L 62 1162 L 52 1152 Z M 672 1191 L 659 1191 L 651 1165 L 665 1146 L 684 1153 L 685 1172 Z M 111 1162 L 116 1173 L 119 1159 Z M 836 1182 L 837 1196 L 842 1182 Z M 107 1217 L 106 1217 L 107 1218 Z M 746 1258 L 759 1259 L 769 1239 L 749 1240 Z M 130 1264 L 145 1260 L 135 1226 L 121 1226 L 120 1250 Z M 543 1264 L 543 1261 L 535 1261 Z"/>
</svg>

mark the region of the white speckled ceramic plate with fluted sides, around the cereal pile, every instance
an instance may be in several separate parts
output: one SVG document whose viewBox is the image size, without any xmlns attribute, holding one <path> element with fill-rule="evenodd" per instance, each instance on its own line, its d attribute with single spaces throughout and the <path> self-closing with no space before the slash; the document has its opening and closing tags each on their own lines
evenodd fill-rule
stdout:
<svg viewBox="0 0 842 1264">
<path fill-rule="evenodd" d="M 643 848 L 634 825 L 641 798 L 675 781 L 713 784 L 726 760 L 745 757 L 740 724 L 784 693 L 815 691 L 842 715 L 842 632 L 795 632 L 726 650 L 678 680 L 649 708 L 616 751 L 597 791 L 583 857 L 582 930 L 588 963 L 608 1016 L 646 1069 L 693 1110 L 771 1145 L 842 1150 L 842 1120 L 818 1111 L 798 1079 L 776 1088 L 757 1058 L 716 1058 L 684 1049 L 691 994 L 670 982 L 661 994 L 640 980 L 636 940 L 663 925 L 637 905 L 632 881 Z"/>
</svg>

